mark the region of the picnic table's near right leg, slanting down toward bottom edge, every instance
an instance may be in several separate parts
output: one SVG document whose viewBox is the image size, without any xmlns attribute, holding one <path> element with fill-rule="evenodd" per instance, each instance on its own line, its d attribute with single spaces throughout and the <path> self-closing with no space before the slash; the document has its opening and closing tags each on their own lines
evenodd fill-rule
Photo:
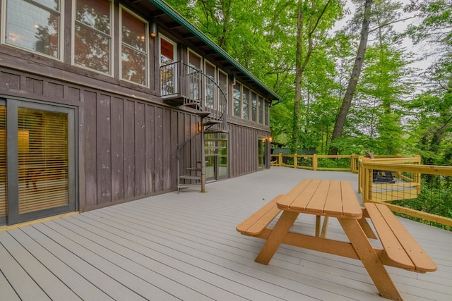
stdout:
<svg viewBox="0 0 452 301">
<path fill-rule="evenodd" d="M 355 248 L 367 273 L 369 273 L 370 278 L 374 281 L 381 297 L 390 300 L 403 300 L 388 271 L 386 271 L 383 263 L 376 254 L 374 247 L 369 242 L 366 233 L 364 233 L 359 225 L 359 221 L 355 219 L 338 219 L 338 221 L 347 234 L 352 246 Z"/>
</svg>

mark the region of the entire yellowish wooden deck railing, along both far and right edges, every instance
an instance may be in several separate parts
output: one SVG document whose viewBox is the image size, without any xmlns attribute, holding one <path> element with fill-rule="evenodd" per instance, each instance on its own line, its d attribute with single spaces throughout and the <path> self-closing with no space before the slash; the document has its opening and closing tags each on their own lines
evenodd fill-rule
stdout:
<svg viewBox="0 0 452 301">
<path fill-rule="evenodd" d="M 421 157 L 272 154 L 272 166 L 358 173 L 363 202 L 381 202 L 408 219 L 452 230 L 452 167 L 427 166 Z M 378 174 L 389 175 L 391 180 Z"/>
</svg>

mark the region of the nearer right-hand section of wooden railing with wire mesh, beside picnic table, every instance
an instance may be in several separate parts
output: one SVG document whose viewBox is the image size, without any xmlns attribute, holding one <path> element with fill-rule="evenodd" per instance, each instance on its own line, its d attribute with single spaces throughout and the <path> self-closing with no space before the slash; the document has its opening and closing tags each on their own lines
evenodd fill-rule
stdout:
<svg viewBox="0 0 452 301">
<path fill-rule="evenodd" d="M 421 165 L 420 156 L 359 158 L 358 189 L 363 202 L 381 202 L 392 211 L 452 230 L 452 167 Z M 374 171 L 393 181 L 376 180 Z"/>
</svg>

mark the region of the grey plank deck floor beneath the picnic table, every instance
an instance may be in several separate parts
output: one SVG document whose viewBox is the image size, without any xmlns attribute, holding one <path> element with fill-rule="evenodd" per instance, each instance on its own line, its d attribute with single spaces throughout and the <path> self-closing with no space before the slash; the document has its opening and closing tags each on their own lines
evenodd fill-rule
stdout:
<svg viewBox="0 0 452 301">
<path fill-rule="evenodd" d="M 263 240 L 235 227 L 302 178 L 342 172 L 272 167 L 239 178 L 1 231 L 0 300 L 385 300 L 361 262 Z M 303 218 L 303 217 L 301 217 Z M 315 216 L 306 215 L 314 231 Z M 452 232 L 402 219 L 438 265 L 387 267 L 405 300 L 452 300 Z M 297 227 L 297 223 L 295 224 Z M 4 229 L 5 230 L 5 229 Z M 346 240 L 335 219 L 328 238 Z"/>
</svg>

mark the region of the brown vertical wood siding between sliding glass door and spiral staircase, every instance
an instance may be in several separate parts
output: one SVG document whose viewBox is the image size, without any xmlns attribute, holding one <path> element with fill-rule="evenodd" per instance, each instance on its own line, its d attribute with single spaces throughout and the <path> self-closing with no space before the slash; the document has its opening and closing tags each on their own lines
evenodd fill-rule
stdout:
<svg viewBox="0 0 452 301">
<path fill-rule="evenodd" d="M 177 147 L 198 122 L 169 106 L 1 67 L 0 96 L 76 108 L 80 210 L 175 190 Z"/>
</svg>

